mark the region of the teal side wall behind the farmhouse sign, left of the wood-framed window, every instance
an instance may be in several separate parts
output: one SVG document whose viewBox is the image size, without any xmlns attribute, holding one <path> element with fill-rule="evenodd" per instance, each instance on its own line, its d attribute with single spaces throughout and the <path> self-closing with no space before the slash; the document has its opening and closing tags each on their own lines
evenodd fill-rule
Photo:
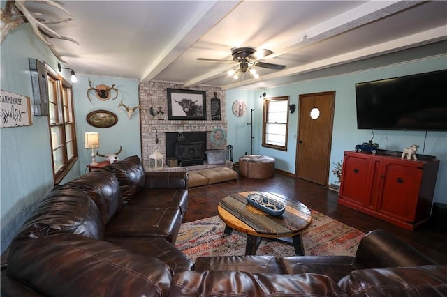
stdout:
<svg viewBox="0 0 447 297">
<path fill-rule="evenodd" d="M 57 60 L 47 45 L 34 38 L 29 25 L 10 31 L 0 47 L 3 91 L 32 98 L 28 58 Z M 36 202 L 53 187 L 47 116 L 33 116 L 31 126 L 0 129 L 1 251 L 29 217 Z"/>
</svg>

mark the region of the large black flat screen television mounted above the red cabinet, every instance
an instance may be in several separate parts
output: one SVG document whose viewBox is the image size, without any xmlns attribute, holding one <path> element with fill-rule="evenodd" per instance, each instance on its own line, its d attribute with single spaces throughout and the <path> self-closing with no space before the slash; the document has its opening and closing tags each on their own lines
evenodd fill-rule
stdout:
<svg viewBox="0 0 447 297">
<path fill-rule="evenodd" d="M 447 131 L 447 70 L 356 84 L 358 129 Z"/>
</svg>

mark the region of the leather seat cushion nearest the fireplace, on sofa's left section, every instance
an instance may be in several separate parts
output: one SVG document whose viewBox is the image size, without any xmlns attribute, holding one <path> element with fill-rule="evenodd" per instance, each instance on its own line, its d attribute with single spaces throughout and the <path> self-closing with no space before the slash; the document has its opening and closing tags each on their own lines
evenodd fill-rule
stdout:
<svg viewBox="0 0 447 297">
<path fill-rule="evenodd" d="M 188 208 L 188 190 L 184 189 L 147 189 L 142 188 L 126 206 L 142 208 L 166 208 L 177 206 L 182 214 Z"/>
</svg>

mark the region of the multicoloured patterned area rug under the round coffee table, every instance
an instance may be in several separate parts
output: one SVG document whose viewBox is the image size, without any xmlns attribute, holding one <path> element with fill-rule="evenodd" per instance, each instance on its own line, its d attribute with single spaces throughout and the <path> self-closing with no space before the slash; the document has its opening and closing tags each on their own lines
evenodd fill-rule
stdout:
<svg viewBox="0 0 447 297">
<path fill-rule="evenodd" d="M 239 231 L 226 235 L 223 229 L 225 223 L 217 215 L 184 223 L 175 246 L 193 261 L 197 257 L 243 255 L 246 235 Z M 301 234 L 306 256 L 353 256 L 363 236 L 361 231 L 317 211 L 312 211 L 311 227 Z M 295 250 L 292 245 L 263 238 L 256 254 L 287 257 L 295 255 Z"/>
</svg>

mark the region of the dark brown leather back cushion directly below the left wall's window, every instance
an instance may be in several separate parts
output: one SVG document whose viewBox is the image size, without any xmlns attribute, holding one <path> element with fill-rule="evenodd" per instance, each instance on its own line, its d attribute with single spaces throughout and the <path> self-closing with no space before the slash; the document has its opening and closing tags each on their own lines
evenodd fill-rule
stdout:
<svg viewBox="0 0 447 297">
<path fill-rule="evenodd" d="M 85 192 L 70 185 L 54 188 L 24 222 L 17 237 L 41 238 L 62 233 L 104 237 L 98 207 Z"/>
</svg>

